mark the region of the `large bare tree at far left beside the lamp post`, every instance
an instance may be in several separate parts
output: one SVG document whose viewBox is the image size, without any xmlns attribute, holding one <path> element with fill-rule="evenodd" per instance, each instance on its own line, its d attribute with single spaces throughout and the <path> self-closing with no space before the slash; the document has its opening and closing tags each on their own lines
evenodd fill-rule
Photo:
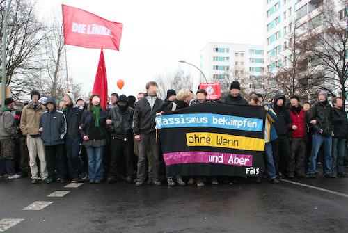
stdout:
<svg viewBox="0 0 348 233">
<path fill-rule="evenodd" d="M 7 1 L 0 2 L 0 36 Z M 38 20 L 35 3 L 14 0 L 8 15 L 6 49 L 6 86 L 11 86 L 13 97 L 20 99 L 28 94 L 40 79 L 45 25 Z M 2 61 L 1 61 L 2 62 Z"/>
</svg>

